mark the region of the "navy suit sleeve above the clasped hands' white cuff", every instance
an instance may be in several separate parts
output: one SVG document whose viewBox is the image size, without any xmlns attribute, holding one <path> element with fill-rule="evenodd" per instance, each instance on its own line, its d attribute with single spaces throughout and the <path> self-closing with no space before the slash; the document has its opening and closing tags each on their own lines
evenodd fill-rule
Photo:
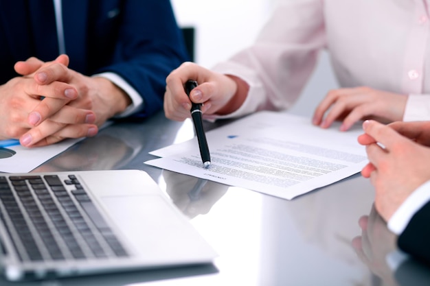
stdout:
<svg viewBox="0 0 430 286">
<path fill-rule="evenodd" d="M 135 116 L 148 117 L 163 107 L 167 75 L 186 60 L 170 1 L 131 0 L 122 8 L 111 64 L 94 72 L 111 71 L 124 78 L 144 99 L 144 110 Z"/>
</svg>

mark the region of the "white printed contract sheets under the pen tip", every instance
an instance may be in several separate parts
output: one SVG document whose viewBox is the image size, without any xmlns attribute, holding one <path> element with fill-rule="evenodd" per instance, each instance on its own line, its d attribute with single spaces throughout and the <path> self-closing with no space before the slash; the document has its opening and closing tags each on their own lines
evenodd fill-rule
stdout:
<svg viewBox="0 0 430 286">
<path fill-rule="evenodd" d="M 207 132 L 212 164 L 203 168 L 199 144 L 190 141 L 150 152 L 145 163 L 291 200 L 357 174 L 367 163 L 360 125 L 322 129 L 283 112 L 256 112 Z"/>
</svg>

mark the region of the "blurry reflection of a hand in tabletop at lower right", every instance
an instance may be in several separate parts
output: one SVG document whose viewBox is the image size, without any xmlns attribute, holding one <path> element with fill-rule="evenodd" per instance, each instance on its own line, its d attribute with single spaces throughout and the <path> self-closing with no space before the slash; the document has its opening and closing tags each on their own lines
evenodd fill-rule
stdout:
<svg viewBox="0 0 430 286">
<path fill-rule="evenodd" d="M 386 263 L 389 252 L 396 249 L 396 235 L 391 233 L 383 218 L 372 208 L 370 215 L 359 219 L 361 237 L 352 240 L 352 247 L 358 257 L 387 285 L 396 285 L 394 274 Z"/>
</svg>

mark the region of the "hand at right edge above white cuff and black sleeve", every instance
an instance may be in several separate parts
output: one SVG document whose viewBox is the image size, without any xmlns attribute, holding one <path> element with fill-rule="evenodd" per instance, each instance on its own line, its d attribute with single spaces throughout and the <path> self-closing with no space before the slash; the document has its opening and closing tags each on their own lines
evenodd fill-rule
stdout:
<svg viewBox="0 0 430 286">
<path fill-rule="evenodd" d="M 376 209 L 388 221 L 414 190 L 430 180 L 428 167 L 423 164 L 430 161 L 430 149 L 376 121 L 365 121 L 363 129 L 359 143 L 366 145 L 370 163 L 361 174 L 370 178 L 376 190 Z M 417 136 L 425 141 L 425 136 Z"/>
</svg>

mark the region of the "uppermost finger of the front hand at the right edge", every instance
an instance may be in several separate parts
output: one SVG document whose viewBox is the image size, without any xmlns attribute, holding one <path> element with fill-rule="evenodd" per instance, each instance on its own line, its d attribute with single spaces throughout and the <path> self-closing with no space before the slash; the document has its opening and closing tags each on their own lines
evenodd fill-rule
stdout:
<svg viewBox="0 0 430 286">
<path fill-rule="evenodd" d="M 363 122 L 363 130 L 369 136 L 372 136 L 375 141 L 382 143 L 387 150 L 390 150 L 394 143 L 398 141 L 407 140 L 405 137 L 398 134 L 395 130 L 389 126 L 385 126 L 382 123 L 378 123 L 374 120 L 366 120 Z M 374 144 L 372 144 L 374 145 Z M 374 147 L 372 147 L 372 150 Z M 377 167 L 377 166 L 376 166 Z"/>
</svg>

